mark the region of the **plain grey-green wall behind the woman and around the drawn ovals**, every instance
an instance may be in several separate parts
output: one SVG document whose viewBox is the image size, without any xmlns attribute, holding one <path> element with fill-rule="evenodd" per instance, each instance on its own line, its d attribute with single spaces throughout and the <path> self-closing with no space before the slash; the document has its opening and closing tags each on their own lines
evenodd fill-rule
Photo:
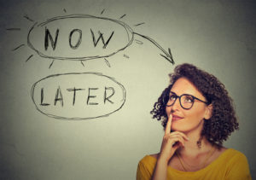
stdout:
<svg viewBox="0 0 256 180">
<path fill-rule="evenodd" d="M 255 5 L 253 1 L 1 1 L 0 177 L 135 179 L 137 162 L 160 150 L 162 127 L 149 111 L 174 66 L 154 44 L 135 37 L 143 44 L 133 42 L 109 57 L 111 67 L 101 58 L 84 61 L 84 66 L 79 61 L 55 61 L 50 68 L 51 59 L 27 46 L 34 22 L 86 14 L 114 20 L 125 15 L 121 20 L 134 32 L 171 48 L 176 64 L 193 63 L 216 75 L 233 97 L 240 120 L 240 131 L 224 145 L 246 154 L 255 178 Z M 20 44 L 25 45 L 15 49 Z M 123 84 L 125 105 L 108 117 L 77 121 L 38 112 L 30 96 L 32 84 L 55 73 L 85 72 L 103 73 Z"/>
</svg>

